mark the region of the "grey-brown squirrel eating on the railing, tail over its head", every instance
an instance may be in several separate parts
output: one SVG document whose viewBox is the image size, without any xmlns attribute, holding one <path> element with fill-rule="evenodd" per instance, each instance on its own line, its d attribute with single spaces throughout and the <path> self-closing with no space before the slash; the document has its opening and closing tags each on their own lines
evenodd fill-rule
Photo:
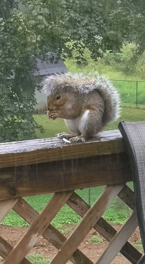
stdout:
<svg viewBox="0 0 145 264">
<path fill-rule="evenodd" d="M 119 93 L 105 77 L 59 73 L 48 76 L 42 90 L 47 95 L 49 118 L 63 118 L 72 132 L 58 134 L 60 139 L 85 142 L 120 116 Z"/>
</svg>

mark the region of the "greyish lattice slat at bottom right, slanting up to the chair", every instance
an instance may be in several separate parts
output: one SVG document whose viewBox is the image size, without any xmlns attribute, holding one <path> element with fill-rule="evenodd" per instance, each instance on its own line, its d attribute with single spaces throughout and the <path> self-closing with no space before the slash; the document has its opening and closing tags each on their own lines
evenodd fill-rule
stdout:
<svg viewBox="0 0 145 264">
<path fill-rule="evenodd" d="M 108 247 L 103 251 L 101 256 L 95 264 L 110 264 L 112 260 L 115 258 L 117 253 L 123 247 L 123 245 L 127 242 L 128 238 L 132 235 L 134 230 L 138 226 L 137 213 L 136 209 L 134 209 L 132 215 L 127 220 L 127 222 L 123 225 L 123 227 L 117 232 L 112 240 L 110 241 Z"/>
</svg>

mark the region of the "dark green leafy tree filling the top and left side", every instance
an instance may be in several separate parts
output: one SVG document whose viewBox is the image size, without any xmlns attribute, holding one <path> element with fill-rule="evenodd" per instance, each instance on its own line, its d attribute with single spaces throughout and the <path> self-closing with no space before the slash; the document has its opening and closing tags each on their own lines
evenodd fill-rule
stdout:
<svg viewBox="0 0 145 264">
<path fill-rule="evenodd" d="M 109 3 L 108 3 L 109 2 Z M 36 57 L 47 52 L 86 62 L 84 50 L 94 60 L 106 50 L 119 52 L 123 43 L 135 41 L 136 56 L 145 45 L 141 36 L 143 1 L 124 0 L 12 0 L 0 1 L 0 141 L 35 138 L 33 119 Z M 139 34 L 138 34 L 139 33 Z M 138 35 L 137 35 L 138 34 Z M 143 34 L 145 30 L 143 27 Z M 12 78 L 13 77 L 13 78 Z"/>
</svg>

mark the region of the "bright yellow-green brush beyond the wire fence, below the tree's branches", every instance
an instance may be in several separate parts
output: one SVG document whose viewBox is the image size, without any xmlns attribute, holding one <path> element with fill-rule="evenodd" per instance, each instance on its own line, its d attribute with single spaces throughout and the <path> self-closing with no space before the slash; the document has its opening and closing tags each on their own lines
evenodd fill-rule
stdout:
<svg viewBox="0 0 145 264">
<path fill-rule="evenodd" d="M 99 74 L 105 74 L 111 79 L 129 79 L 129 80 L 145 80 L 145 52 L 142 53 L 138 60 L 133 60 L 137 52 L 137 45 L 135 43 L 130 43 L 123 45 L 120 52 L 110 53 L 106 51 L 103 53 L 103 58 L 98 58 L 95 62 L 90 58 L 90 51 L 88 49 L 84 50 L 84 58 L 87 60 L 87 65 L 82 63 L 81 65 L 76 65 L 76 55 L 77 51 L 73 52 L 71 59 L 66 59 L 65 64 L 69 71 L 71 72 L 98 72 Z"/>
</svg>

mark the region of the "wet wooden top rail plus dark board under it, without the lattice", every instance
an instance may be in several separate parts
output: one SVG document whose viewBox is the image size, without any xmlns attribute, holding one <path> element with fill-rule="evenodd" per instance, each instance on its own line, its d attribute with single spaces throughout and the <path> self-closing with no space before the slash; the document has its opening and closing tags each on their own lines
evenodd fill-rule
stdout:
<svg viewBox="0 0 145 264">
<path fill-rule="evenodd" d="M 0 200 L 130 180 L 118 130 L 86 143 L 50 138 L 0 144 Z"/>
</svg>

